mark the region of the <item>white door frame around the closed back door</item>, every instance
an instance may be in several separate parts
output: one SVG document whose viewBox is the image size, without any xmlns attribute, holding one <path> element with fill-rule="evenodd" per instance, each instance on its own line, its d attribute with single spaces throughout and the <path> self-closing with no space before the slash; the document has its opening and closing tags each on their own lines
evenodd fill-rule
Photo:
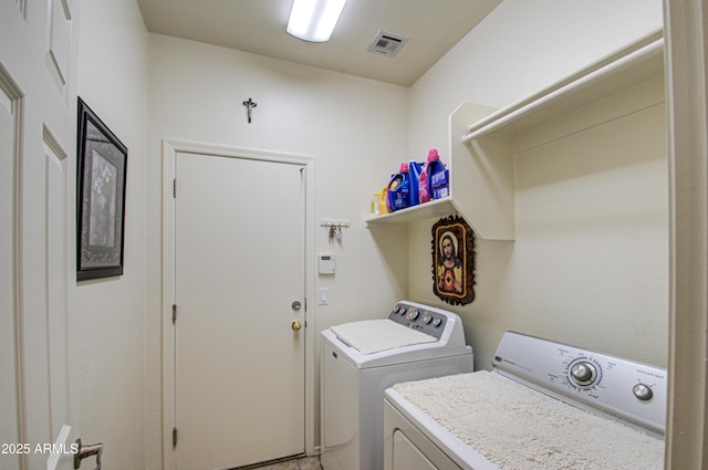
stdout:
<svg viewBox="0 0 708 470">
<path fill-rule="evenodd" d="M 177 153 L 214 155 L 231 158 L 248 158 L 301 165 L 305 171 L 305 403 L 304 447 L 305 453 L 315 453 L 315 340 L 316 302 L 315 292 L 315 206 L 314 206 L 314 158 L 303 155 L 284 154 L 253 148 L 229 147 L 221 145 L 185 140 L 163 140 L 163 453 L 164 468 L 175 468 L 173 451 L 173 428 L 175 427 L 175 336 L 173 325 L 173 304 L 175 303 L 175 198 L 173 180 Z M 311 302 L 308 302 L 308 299 Z"/>
</svg>

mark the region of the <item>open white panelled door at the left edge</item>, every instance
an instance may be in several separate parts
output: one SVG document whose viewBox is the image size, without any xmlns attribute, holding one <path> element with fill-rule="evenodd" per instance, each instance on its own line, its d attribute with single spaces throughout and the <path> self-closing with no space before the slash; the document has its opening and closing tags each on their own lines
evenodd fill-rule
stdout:
<svg viewBox="0 0 708 470">
<path fill-rule="evenodd" d="M 0 468 L 72 469 L 73 0 L 0 2 Z M 11 46 L 9 46 L 12 44 Z"/>
</svg>

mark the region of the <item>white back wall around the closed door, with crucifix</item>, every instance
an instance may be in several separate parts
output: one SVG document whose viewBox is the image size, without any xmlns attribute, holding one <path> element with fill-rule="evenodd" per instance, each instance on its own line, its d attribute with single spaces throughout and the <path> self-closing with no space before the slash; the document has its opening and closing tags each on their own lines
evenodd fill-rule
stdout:
<svg viewBox="0 0 708 470">
<path fill-rule="evenodd" d="M 163 139 L 315 160 L 315 221 L 352 223 L 341 242 L 330 241 L 319 223 L 315 228 L 316 251 L 337 255 L 336 274 L 316 280 L 316 286 L 330 289 L 329 305 L 308 303 L 309 325 L 317 333 L 332 324 L 379 317 L 407 292 L 408 279 L 405 233 L 372 234 L 363 222 L 373 191 L 406 158 L 407 88 L 163 35 L 153 34 L 149 41 L 146 432 L 152 463 L 162 430 Z M 251 124 L 242 105 L 249 97 L 258 103 Z M 258 203 L 258 197 L 249 203 Z M 374 236 L 379 243 L 374 243 Z M 315 265 L 314 259 L 309 262 Z M 314 358 L 308 362 L 319 364 Z"/>
</svg>

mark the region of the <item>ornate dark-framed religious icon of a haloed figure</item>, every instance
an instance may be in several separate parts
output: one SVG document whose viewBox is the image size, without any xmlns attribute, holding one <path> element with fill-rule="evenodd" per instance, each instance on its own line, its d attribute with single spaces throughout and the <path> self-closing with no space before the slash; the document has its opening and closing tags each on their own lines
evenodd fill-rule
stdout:
<svg viewBox="0 0 708 470">
<path fill-rule="evenodd" d="M 433 292 L 452 305 L 475 300 L 475 234 L 461 217 L 433 226 Z"/>
</svg>

